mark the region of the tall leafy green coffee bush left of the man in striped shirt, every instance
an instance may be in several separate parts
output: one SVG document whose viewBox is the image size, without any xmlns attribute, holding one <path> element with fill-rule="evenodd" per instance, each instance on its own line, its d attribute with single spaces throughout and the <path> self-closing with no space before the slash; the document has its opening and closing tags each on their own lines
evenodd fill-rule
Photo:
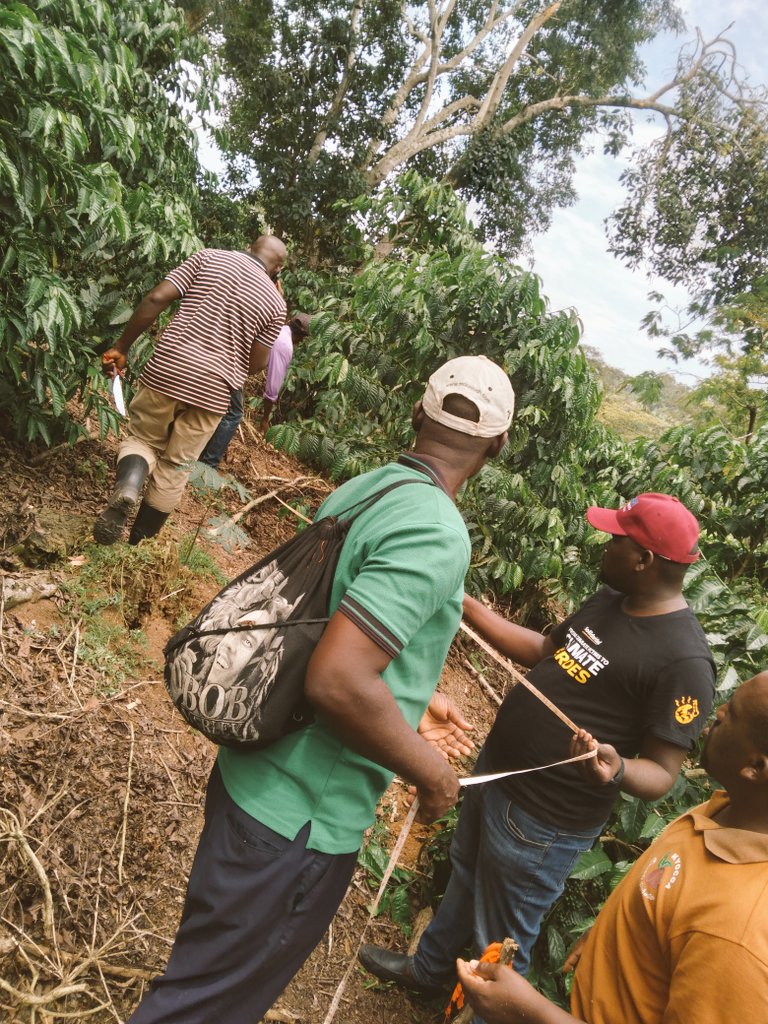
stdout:
<svg viewBox="0 0 768 1024">
<path fill-rule="evenodd" d="M 167 0 L 0 6 L 0 414 L 19 439 L 74 440 L 74 397 L 117 428 L 94 353 L 200 248 L 203 55 Z"/>
</svg>

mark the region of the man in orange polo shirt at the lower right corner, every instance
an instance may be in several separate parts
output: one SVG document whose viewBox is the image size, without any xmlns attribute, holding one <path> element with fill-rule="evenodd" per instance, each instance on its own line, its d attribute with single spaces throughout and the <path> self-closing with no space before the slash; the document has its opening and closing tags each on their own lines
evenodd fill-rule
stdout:
<svg viewBox="0 0 768 1024">
<path fill-rule="evenodd" d="M 609 758 L 589 734 L 573 745 Z M 768 672 L 718 710 L 701 764 L 725 792 L 674 821 L 611 894 L 579 961 L 572 1014 L 514 970 L 459 961 L 487 1024 L 768 1021 Z"/>
</svg>

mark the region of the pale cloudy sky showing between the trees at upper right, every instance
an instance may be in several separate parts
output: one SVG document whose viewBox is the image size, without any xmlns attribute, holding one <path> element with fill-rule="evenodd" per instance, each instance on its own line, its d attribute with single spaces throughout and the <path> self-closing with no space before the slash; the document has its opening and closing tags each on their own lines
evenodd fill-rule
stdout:
<svg viewBox="0 0 768 1024">
<path fill-rule="evenodd" d="M 643 53 L 651 86 L 669 81 L 680 46 L 693 37 L 696 26 L 705 39 L 710 39 L 731 22 L 734 26 L 728 35 L 736 44 L 739 62 L 755 84 L 765 81 L 765 0 L 695 0 L 681 6 L 686 33 L 680 37 L 667 34 Z M 656 131 L 652 123 L 639 124 L 635 138 L 650 139 Z M 553 309 L 578 311 L 584 327 L 583 342 L 597 348 L 610 366 L 629 374 L 670 372 L 681 382 L 693 385 L 708 373 L 707 368 L 694 360 L 676 366 L 658 358 L 658 339 L 648 338 L 640 328 L 642 317 L 652 306 L 647 298 L 651 289 L 662 292 L 672 305 L 685 304 L 685 291 L 629 269 L 607 251 L 604 221 L 622 200 L 618 177 L 624 166 L 624 161 L 604 156 L 599 144 L 581 160 L 574 179 L 579 201 L 555 213 L 549 230 L 532 241 L 532 259 L 523 262 L 542 279 L 543 292 Z"/>
</svg>

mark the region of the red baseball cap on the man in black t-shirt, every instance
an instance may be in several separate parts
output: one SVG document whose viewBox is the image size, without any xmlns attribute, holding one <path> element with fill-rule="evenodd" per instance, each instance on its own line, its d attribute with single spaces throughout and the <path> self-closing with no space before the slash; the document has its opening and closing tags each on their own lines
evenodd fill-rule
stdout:
<svg viewBox="0 0 768 1024">
<path fill-rule="evenodd" d="M 698 550 L 698 521 L 672 495 L 638 495 L 621 509 L 587 509 L 587 521 L 595 529 L 629 537 L 654 555 L 673 562 L 695 562 Z"/>
</svg>

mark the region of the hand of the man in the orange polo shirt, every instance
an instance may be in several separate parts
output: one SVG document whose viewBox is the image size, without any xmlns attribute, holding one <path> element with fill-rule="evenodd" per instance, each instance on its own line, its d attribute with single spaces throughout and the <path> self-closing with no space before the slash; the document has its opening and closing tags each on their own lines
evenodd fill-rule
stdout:
<svg viewBox="0 0 768 1024">
<path fill-rule="evenodd" d="M 514 968 L 458 959 L 456 970 L 467 1001 L 486 1024 L 531 1024 L 550 1002 Z"/>
</svg>

